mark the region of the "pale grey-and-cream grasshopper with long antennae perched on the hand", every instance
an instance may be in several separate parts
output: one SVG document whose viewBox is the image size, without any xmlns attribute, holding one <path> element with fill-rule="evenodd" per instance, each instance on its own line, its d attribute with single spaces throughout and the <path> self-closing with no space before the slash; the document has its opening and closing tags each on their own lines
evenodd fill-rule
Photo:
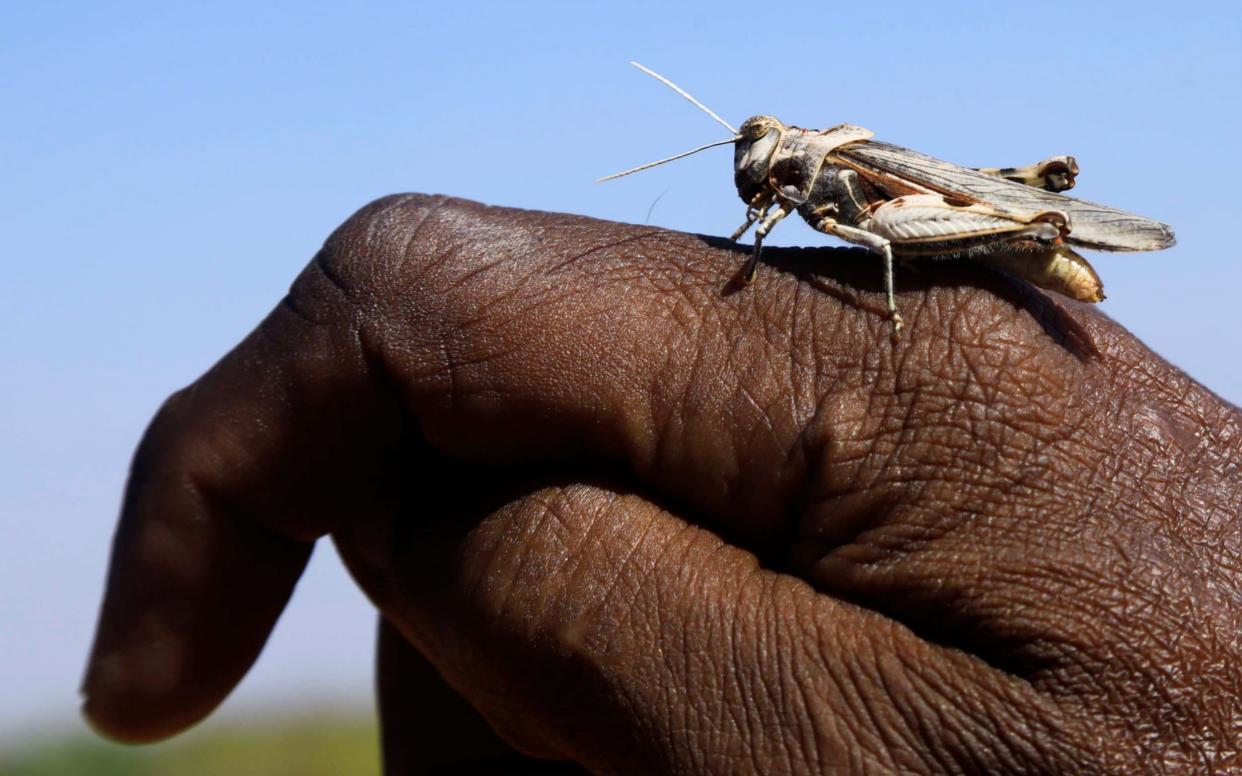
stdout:
<svg viewBox="0 0 1242 776">
<path fill-rule="evenodd" d="M 802 129 L 760 114 L 734 129 L 672 81 L 631 65 L 694 103 L 733 137 L 599 183 L 733 144 L 733 181 L 746 204 L 746 220 L 732 240 L 758 223 L 741 279 L 754 281 L 764 237 L 796 211 L 812 228 L 883 257 L 894 335 L 903 325 L 893 297 L 894 257 L 972 258 L 1041 288 L 1100 302 L 1099 276 L 1073 247 L 1159 251 L 1175 242 L 1172 230 L 1159 221 L 1062 195 L 1078 175 L 1073 156 L 1022 168 L 964 168 L 873 140 L 873 132 L 853 124 Z"/>
</svg>

